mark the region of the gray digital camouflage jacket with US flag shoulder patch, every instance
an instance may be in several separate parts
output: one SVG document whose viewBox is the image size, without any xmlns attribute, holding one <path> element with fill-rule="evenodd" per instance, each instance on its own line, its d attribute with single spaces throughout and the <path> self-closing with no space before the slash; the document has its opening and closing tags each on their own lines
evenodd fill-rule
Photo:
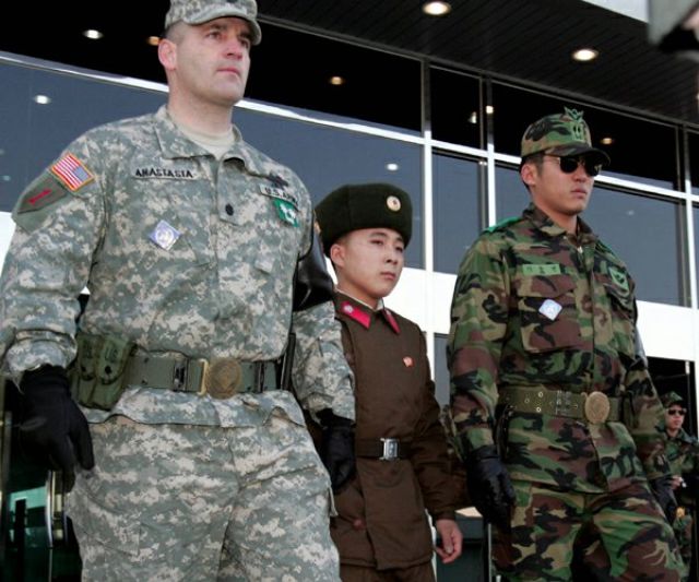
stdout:
<svg viewBox="0 0 699 582">
<path fill-rule="evenodd" d="M 332 304 L 292 313 L 296 262 L 310 246 L 310 197 L 292 170 L 234 132 L 216 159 L 162 107 L 90 130 L 27 187 L 0 281 L 7 375 L 71 364 L 87 287 L 81 329 L 150 355 L 271 360 L 293 325 L 298 399 L 312 412 L 354 417 Z M 304 424 L 283 391 L 215 401 L 131 385 L 110 412 L 86 414 L 254 426 L 273 411 Z"/>
</svg>

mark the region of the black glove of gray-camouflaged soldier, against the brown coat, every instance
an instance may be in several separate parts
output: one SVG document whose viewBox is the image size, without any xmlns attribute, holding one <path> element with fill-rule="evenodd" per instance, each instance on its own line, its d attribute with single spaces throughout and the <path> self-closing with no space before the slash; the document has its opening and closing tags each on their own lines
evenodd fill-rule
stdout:
<svg viewBox="0 0 699 582">
<path fill-rule="evenodd" d="M 330 474 L 334 492 L 340 491 L 356 471 L 354 458 L 354 423 L 335 416 L 330 408 L 318 413 L 322 427 L 320 460 Z"/>
</svg>

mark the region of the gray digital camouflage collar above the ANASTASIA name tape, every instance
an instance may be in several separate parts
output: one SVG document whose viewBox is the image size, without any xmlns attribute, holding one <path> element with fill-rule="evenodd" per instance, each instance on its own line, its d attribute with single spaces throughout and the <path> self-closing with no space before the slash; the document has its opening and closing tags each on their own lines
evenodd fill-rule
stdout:
<svg viewBox="0 0 699 582">
<path fill-rule="evenodd" d="M 155 114 L 155 133 L 166 158 L 211 155 L 210 152 L 192 142 L 175 124 L 163 105 Z M 224 155 L 224 159 L 239 159 L 250 174 L 266 176 L 263 155 L 242 140 L 240 130 L 233 126 L 235 143 Z"/>
</svg>

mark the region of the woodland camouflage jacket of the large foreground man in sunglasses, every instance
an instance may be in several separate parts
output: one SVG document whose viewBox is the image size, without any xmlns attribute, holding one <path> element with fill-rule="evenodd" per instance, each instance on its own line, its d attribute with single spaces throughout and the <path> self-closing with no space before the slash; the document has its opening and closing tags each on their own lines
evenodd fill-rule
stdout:
<svg viewBox="0 0 699 582">
<path fill-rule="evenodd" d="M 633 281 L 578 224 L 571 239 L 530 205 L 467 251 L 451 307 L 451 403 L 467 452 L 494 442 L 505 390 L 621 399 L 621 421 L 513 413 L 501 450 L 514 479 L 601 492 L 668 467 L 657 429 L 663 408 L 636 349 Z"/>
</svg>

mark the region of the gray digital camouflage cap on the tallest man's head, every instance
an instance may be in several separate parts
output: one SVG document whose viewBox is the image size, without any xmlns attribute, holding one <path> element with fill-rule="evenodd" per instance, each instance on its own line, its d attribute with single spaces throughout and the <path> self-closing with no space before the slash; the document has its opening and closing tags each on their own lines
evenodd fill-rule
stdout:
<svg viewBox="0 0 699 582">
<path fill-rule="evenodd" d="M 250 24 L 252 44 L 262 40 L 262 31 L 258 24 L 258 4 L 254 0 L 170 0 L 170 9 L 165 15 L 165 28 L 176 22 L 203 24 L 224 16 L 237 16 Z"/>
</svg>

